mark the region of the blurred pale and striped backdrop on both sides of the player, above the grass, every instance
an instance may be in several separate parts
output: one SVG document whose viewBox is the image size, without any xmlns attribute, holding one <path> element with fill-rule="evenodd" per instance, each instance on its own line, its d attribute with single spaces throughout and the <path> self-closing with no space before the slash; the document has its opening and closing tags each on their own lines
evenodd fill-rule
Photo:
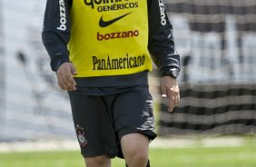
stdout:
<svg viewBox="0 0 256 167">
<path fill-rule="evenodd" d="M 76 140 L 67 93 L 57 87 L 41 42 L 45 2 L 0 0 L 0 143 Z M 181 54 L 182 100 L 166 113 L 154 70 L 160 139 L 250 136 L 256 143 L 256 1 L 165 5 Z"/>
</svg>

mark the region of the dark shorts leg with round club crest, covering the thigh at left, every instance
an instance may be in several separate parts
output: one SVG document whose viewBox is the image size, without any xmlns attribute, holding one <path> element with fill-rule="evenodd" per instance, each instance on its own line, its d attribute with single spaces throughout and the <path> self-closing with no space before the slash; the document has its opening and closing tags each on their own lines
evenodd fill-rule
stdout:
<svg viewBox="0 0 256 167">
<path fill-rule="evenodd" d="M 101 96 L 70 93 L 74 128 L 84 158 L 116 154 L 116 140 Z"/>
</svg>

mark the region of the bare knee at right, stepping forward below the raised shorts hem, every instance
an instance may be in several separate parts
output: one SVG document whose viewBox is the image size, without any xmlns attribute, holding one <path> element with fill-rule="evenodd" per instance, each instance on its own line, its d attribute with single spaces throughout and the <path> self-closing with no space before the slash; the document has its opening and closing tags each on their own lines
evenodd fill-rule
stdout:
<svg viewBox="0 0 256 167">
<path fill-rule="evenodd" d="M 146 166 L 149 140 L 140 133 L 132 133 L 121 139 L 123 155 L 129 167 Z"/>
</svg>

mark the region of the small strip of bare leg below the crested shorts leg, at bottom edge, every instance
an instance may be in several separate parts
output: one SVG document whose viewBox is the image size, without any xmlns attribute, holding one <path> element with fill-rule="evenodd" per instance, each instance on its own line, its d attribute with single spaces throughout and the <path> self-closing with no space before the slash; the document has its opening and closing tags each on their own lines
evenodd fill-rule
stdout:
<svg viewBox="0 0 256 167">
<path fill-rule="evenodd" d="M 111 160 L 106 155 L 84 159 L 86 167 L 110 167 Z"/>
</svg>

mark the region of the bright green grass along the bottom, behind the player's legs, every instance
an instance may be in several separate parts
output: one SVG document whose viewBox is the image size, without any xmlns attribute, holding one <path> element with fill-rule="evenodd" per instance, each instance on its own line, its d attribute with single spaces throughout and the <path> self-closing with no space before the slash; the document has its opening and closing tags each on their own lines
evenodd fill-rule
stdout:
<svg viewBox="0 0 256 167">
<path fill-rule="evenodd" d="M 153 167 L 255 167 L 256 145 L 221 148 L 151 149 Z M 1 167 L 84 167 L 79 152 L 0 153 Z M 121 159 L 113 167 L 123 167 Z"/>
</svg>

